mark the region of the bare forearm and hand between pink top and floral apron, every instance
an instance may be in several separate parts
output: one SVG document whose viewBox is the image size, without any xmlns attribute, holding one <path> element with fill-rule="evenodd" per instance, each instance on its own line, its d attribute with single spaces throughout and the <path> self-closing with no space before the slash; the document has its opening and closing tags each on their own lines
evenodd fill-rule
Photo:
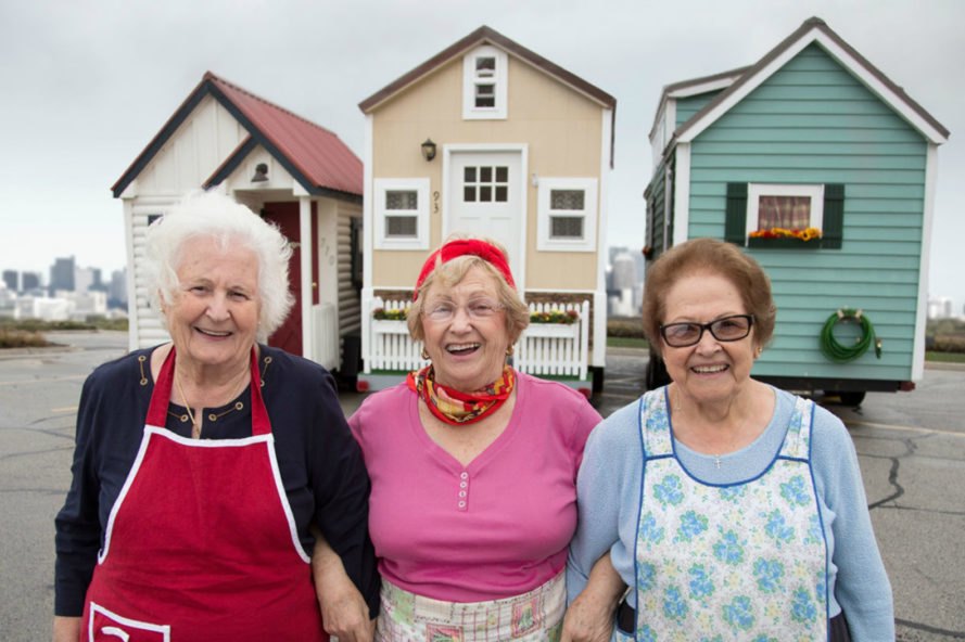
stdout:
<svg viewBox="0 0 965 642">
<path fill-rule="evenodd" d="M 586 587 L 567 608 L 560 642 L 609 642 L 613 613 L 626 585 L 607 553 L 593 565 Z"/>
</svg>

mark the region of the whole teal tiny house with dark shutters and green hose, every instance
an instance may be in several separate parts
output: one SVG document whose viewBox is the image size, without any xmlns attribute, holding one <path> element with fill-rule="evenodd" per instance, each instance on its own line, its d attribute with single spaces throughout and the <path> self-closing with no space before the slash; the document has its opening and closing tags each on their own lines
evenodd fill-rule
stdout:
<svg viewBox="0 0 965 642">
<path fill-rule="evenodd" d="M 811 18 L 752 66 L 664 88 L 644 254 L 712 236 L 764 267 L 778 313 L 757 378 L 850 402 L 912 389 L 924 369 L 937 150 L 948 137 Z M 651 359 L 648 385 L 662 375 Z"/>
</svg>

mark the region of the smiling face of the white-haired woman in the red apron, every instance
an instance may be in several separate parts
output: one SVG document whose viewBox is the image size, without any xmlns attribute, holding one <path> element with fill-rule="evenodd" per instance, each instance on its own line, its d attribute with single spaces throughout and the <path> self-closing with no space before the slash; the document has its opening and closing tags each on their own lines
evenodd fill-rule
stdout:
<svg viewBox="0 0 965 642">
<path fill-rule="evenodd" d="M 186 241 L 180 255 L 179 284 L 164 307 L 179 364 L 246 367 L 262 309 L 257 256 L 237 244 L 223 249 L 208 237 Z"/>
</svg>

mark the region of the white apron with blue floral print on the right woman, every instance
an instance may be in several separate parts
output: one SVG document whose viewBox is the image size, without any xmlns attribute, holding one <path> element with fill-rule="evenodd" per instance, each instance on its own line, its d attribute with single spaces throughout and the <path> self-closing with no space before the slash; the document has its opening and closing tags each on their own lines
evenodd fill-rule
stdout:
<svg viewBox="0 0 965 642">
<path fill-rule="evenodd" d="M 635 640 L 827 640 L 813 412 L 812 401 L 798 398 L 771 465 L 751 479 L 713 485 L 676 458 L 665 389 L 643 397 Z"/>
</svg>

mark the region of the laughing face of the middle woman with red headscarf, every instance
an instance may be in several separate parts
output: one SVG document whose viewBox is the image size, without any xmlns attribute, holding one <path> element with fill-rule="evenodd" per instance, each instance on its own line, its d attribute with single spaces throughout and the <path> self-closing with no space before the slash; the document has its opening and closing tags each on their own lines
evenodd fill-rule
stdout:
<svg viewBox="0 0 965 642">
<path fill-rule="evenodd" d="M 496 281 L 473 267 L 459 283 L 426 293 L 422 332 L 436 381 L 472 393 L 503 374 L 509 334 Z"/>
</svg>

